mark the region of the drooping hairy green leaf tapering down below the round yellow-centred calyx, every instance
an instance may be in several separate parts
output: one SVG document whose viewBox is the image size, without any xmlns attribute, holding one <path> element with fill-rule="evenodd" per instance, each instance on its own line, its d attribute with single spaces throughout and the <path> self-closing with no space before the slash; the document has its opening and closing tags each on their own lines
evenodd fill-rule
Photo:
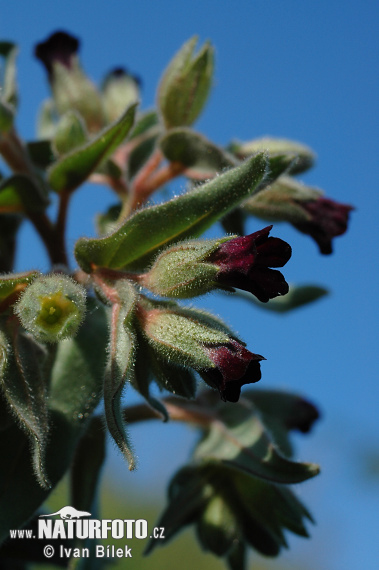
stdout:
<svg viewBox="0 0 379 570">
<path fill-rule="evenodd" d="M 29 439 L 36 479 L 41 487 L 49 489 L 51 483 L 45 464 L 49 431 L 44 370 L 47 351 L 19 327 L 12 328 L 1 389 L 17 424 Z"/>
</svg>

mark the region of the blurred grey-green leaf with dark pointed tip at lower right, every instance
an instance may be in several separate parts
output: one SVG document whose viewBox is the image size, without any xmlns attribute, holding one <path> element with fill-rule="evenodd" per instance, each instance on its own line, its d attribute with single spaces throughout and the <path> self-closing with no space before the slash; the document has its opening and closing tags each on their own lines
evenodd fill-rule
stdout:
<svg viewBox="0 0 379 570">
<path fill-rule="evenodd" d="M 212 422 L 204 433 L 195 460 L 221 462 L 277 483 L 300 483 L 319 473 L 315 464 L 296 463 L 282 456 L 253 408 L 224 404 L 219 415 L 222 421 Z"/>
</svg>

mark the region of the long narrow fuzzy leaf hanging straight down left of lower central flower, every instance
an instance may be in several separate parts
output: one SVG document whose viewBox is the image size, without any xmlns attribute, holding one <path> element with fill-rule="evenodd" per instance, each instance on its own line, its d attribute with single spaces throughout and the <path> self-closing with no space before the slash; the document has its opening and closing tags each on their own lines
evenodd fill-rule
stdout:
<svg viewBox="0 0 379 570">
<path fill-rule="evenodd" d="M 114 284 L 119 301 L 112 305 L 108 364 L 104 376 L 104 411 L 107 427 L 117 447 L 129 463 L 136 467 L 135 457 L 122 418 L 121 396 L 125 382 L 133 373 L 135 335 L 133 313 L 137 292 L 129 281 Z"/>
</svg>

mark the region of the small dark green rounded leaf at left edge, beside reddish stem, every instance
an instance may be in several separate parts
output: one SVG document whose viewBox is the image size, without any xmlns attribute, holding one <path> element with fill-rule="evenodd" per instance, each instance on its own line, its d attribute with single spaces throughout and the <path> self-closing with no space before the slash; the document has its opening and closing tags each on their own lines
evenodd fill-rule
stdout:
<svg viewBox="0 0 379 570">
<path fill-rule="evenodd" d="M 27 174 L 13 174 L 0 184 L 0 211 L 40 212 L 49 205 L 47 191 Z"/>
</svg>

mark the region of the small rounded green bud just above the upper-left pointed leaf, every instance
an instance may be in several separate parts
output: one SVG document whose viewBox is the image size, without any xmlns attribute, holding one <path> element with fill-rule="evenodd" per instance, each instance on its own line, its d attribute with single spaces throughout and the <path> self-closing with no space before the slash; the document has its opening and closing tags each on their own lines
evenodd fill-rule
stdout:
<svg viewBox="0 0 379 570">
<path fill-rule="evenodd" d="M 78 111 L 67 111 L 56 126 L 53 148 L 58 155 L 64 155 L 87 142 L 85 122 Z"/>
</svg>

